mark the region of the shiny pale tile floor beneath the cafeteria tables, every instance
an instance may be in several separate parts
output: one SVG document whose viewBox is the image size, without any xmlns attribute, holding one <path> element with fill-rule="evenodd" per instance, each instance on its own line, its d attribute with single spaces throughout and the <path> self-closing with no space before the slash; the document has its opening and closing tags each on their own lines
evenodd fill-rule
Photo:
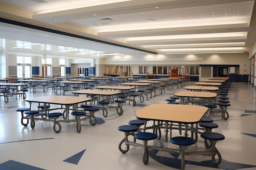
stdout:
<svg viewBox="0 0 256 170">
<path fill-rule="evenodd" d="M 194 82 L 189 82 L 189 85 L 193 84 Z M 184 89 L 175 88 L 175 90 L 166 91 L 162 95 L 157 93 L 155 97 L 144 100 L 143 103 L 137 102 L 139 106 L 132 106 L 126 102 L 126 105 L 123 106 L 124 114 L 121 116 L 117 115 L 113 109 L 105 118 L 100 110 L 95 115 L 102 119 L 99 121 L 102 124 L 91 126 L 88 120 L 83 121 L 80 133 L 76 132 L 76 123 L 74 122 L 61 123 L 62 130 L 59 133 L 53 131 L 52 122 L 36 121 L 34 130 L 30 125 L 24 127 L 20 124 L 20 113 L 17 113 L 16 109 L 29 107 L 29 103 L 19 97 L 16 99 L 14 96 L 9 97 L 9 102 L 5 103 L 1 97 L 0 169 L 28 169 L 22 168 L 21 165 L 24 164 L 33 166 L 30 168 L 31 170 L 40 168 L 45 170 L 179 169 L 180 156 L 172 152 L 150 150 L 147 165 L 142 162 L 142 148 L 140 147 L 130 146 L 130 150 L 126 154 L 122 154 L 118 149 L 118 144 L 124 138 L 124 133 L 117 130 L 119 126 L 136 119 L 135 110 L 150 104 L 166 103 L 165 99 L 177 91 L 184 91 Z M 71 95 L 71 93 L 69 94 Z M 27 92 L 27 98 L 42 95 L 55 94 L 50 90 L 48 93 L 43 93 L 40 90 L 36 94 Z M 217 129 L 213 129 L 213 132 L 225 135 L 225 140 L 216 144 L 222 155 L 222 163 L 215 166 L 210 156 L 186 156 L 186 170 L 256 170 L 255 89 L 246 82 L 233 82 L 228 97 L 231 104 L 227 109 L 229 119 L 222 120 L 220 114 L 211 117 L 219 126 Z M 32 109 L 37 109 L 37 105 L 33 104 Z M 103 123 L 103 121 L 105 122 Z M 173 131 L 174 135 L 179 134 Z M 150 141 L 149 145 L 177 148 L 169 141 L 165 142 L 163 129 L 162 138 Z M 203 140 L 199 138 L 198 142 L 188 150 L 204 150 Z M 72 160 L 70 161 L 69 158 Z M 79 160 L 79 158 L 81 159 Z M 77 163 L 74 163 L 75 161 Z"/>
</svg>

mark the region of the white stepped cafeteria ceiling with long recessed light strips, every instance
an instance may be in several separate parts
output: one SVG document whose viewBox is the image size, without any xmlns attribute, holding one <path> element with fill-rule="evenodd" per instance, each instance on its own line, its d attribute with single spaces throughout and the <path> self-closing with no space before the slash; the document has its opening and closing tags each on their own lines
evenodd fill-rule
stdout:
<svg viewBox="0 0 256 170">
<path fill-rule="evenodd" d="M 225 47 L 248 52 L 256 42 L 254 0 L 87 0 L 86 3 L 84 0 L 45 3 L 0 0 L 0 3 L 1 11 L 9 13 L 9 18 L 20 15 L 26 18 L 22 21 L 32 19 L 39 25 L 45 23 L 46 27 L 52 25 L 67 33 L 92 35 L 107 43 L 0 23 L 0 38 L 12 40 L 130 55 L 165 53 L 162 49 L 167 51 L 167 47 L 174 53 L 182 48 L 188 53 L 210 53 L 221 47 L 217 43 L 230 43 Z M 16 13 L 13 7 L 23 13 Z M 206 47 L 211 49 L 204 50 Z"/>
</svg>

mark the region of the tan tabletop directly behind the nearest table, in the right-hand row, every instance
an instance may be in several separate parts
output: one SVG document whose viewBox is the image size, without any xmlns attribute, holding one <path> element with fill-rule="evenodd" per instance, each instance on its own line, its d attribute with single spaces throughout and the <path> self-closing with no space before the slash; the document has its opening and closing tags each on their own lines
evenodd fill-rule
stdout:
<svg viewBox="0 0 256 170">
<path fill-rule="evenodd" d="M 201 91 L 180 91 L 173 95 L 178 97 L 198 97 L 198 98 L 213 98 L 217 96 L 217 93 L 201 92 Z"/>
</svg>

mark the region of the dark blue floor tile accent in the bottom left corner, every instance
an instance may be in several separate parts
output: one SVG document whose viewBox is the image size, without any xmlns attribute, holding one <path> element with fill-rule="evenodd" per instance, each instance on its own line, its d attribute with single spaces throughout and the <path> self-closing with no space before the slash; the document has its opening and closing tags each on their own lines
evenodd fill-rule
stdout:
<svg viewBox="0 0 256 170">
<path fill-rule="evenodd" d="M 25 163 L 9 160 L 0 164 L 0 170 L 45 170 Z"/>
</svg>

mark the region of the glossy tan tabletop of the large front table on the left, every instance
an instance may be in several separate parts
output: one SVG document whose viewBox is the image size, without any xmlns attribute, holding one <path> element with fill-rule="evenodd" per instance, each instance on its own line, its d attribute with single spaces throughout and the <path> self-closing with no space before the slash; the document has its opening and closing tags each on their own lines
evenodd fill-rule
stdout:
<svg viewBox="0 0 256 170">
<path fill-rule="evenodd" d="M 89 97 L 76 97 L 76 96 L 41 96 L 26 99 L 27 102 L 46 103 L 46 104 L 63 104 L 72 105 L 90 101 Z"/>
</svg>

